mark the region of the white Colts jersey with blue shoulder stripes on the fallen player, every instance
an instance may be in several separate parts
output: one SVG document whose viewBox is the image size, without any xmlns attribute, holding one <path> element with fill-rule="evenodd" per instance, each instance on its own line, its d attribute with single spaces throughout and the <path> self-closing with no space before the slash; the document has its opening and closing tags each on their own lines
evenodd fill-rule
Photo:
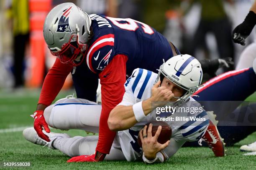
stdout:
<svg viewBox="0 0 256 170">
<path fill-rule="evenodd" d="M 134 105 L 137 102 L 151 97 L 151 88 L 156 78 L 157 74 L 154 72 L 141 68 L 133 70 L 132 76 L 125 82 L 125 94 L 122 102 L 118 105 Z M 189 102 L 183 103 L 179 107 L 199 108 L 201 105 L 190 97 Z M 193 114 L 174 112 L 169 115 L 166 115 L 166 113 L 157 115 L 156 110 L 154 110 L 132 128 L 118 132 L 123 154 L 128 161 L 141 158 L 142 148 L 140 148 L 137 143 L 139 130 L 141 130 L 146 123 L 156 120 L 156 117 L 158 117 L 158 119 L 161 117 L 174 117 L 174 121 L 165 121 L 172 128 L 171 142 L 169 146 L 164 149 L 164 154 L 167 158 L 174 155 L 186 141 L 199 140 L 201 136 L 204 135 L 209 125 L 209 118 L 204 110 L 194 112 Z M 181 117 L 182 120 L 175 121 L 175 117 Z M 189 120 L 186 120 L 186 117 Z M 201 121 L 193 120 L 193 117 L 200 118 Z"/>
</svg>

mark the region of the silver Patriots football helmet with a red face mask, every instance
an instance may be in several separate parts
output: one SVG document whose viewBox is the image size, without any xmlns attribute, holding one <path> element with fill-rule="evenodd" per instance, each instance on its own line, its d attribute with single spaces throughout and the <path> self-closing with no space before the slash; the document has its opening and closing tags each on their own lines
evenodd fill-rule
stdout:
<svg viewBox="0 0 256 170">
<path fill-rule="evenodd" d="M 90 35 L 91 18 L 73 3 L 54 7 L 44 21 L 44 40 L 62 63 L 80 65 Z"/>
</svg>

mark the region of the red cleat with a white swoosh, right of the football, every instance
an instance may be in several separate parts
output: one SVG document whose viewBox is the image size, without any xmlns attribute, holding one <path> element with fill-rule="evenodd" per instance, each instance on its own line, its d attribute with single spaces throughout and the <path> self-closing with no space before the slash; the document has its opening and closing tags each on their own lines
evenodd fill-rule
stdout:
<svg viewBox="0 0 256 170">
<path fill-rule="evenodd" d="M 213 119 L 211 119 L 211 116 L 213 116 Z M 205 132 L 205 135 L 202 136 L 201 140 L 207 143 L 207 145 L 212 149 L 216 157 L 225 156 L 225 147 L 224 147 L 225 143 L 224 143 L 224 139 L 220 137 L 220 133 L 217 129 L 218 121 L 215 120 L 216 115 L 213 115 L 213 112 L 210 112 L 209 117 L 210 117 L 209 126 Z"/>
</svg>

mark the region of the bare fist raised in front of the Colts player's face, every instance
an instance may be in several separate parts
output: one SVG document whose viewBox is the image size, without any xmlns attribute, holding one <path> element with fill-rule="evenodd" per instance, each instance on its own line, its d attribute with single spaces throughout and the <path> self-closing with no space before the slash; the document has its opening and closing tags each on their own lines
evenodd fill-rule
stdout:
<svg viewBox="0 0 256 170">
<path fill-rule="evenodd" d="M 159 87 L 160 84 L 161 84 L 161 81 L 159 80 L 151 88 L 152 94 L 151 94 L 150 99 L 152 102 L 155 102 L 154 103 L 155 107 L 165 105 L 167 102 L 169 102 L 172 99 L 172 97 L 174 97 L 174 94 L 171 90 L 169 90 L 168 88 L 166 88 L 164 86 Z"/>
</svg>

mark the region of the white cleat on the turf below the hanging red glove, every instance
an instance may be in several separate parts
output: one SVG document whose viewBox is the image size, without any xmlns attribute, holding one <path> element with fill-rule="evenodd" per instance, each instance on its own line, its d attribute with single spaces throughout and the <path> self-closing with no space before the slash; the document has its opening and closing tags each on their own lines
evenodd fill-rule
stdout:
<svg viewBox="0 0 256 170">
<path fill-rule="evenodd" d="M 42 145 L 42 146 L 46 146 L 48 145 L 49 148 L 51 149 L 55 149 L 53 146 L 52 146 L 52 142 L 57 138 L 57 137 L 60 137 L 60 138 L 70 138 L 70 136 L 66 133 L 54 133 L 54 132 L 50 132 L 50 133 L 46 133 L 44 130 L 43 130 L 43 133 L 47 136 L 49 136 L 50 138 L 50 142 L 46 142 L 45 140 L 41 139 L 37 133 L 36 133 L 36 130 L 34 128 L 26 128 L 23 130 L 23 136 L 26 140 L 28 140 L 29 142 L 31 143 L 35 143 L 36 145 Z"/>
</svg>

